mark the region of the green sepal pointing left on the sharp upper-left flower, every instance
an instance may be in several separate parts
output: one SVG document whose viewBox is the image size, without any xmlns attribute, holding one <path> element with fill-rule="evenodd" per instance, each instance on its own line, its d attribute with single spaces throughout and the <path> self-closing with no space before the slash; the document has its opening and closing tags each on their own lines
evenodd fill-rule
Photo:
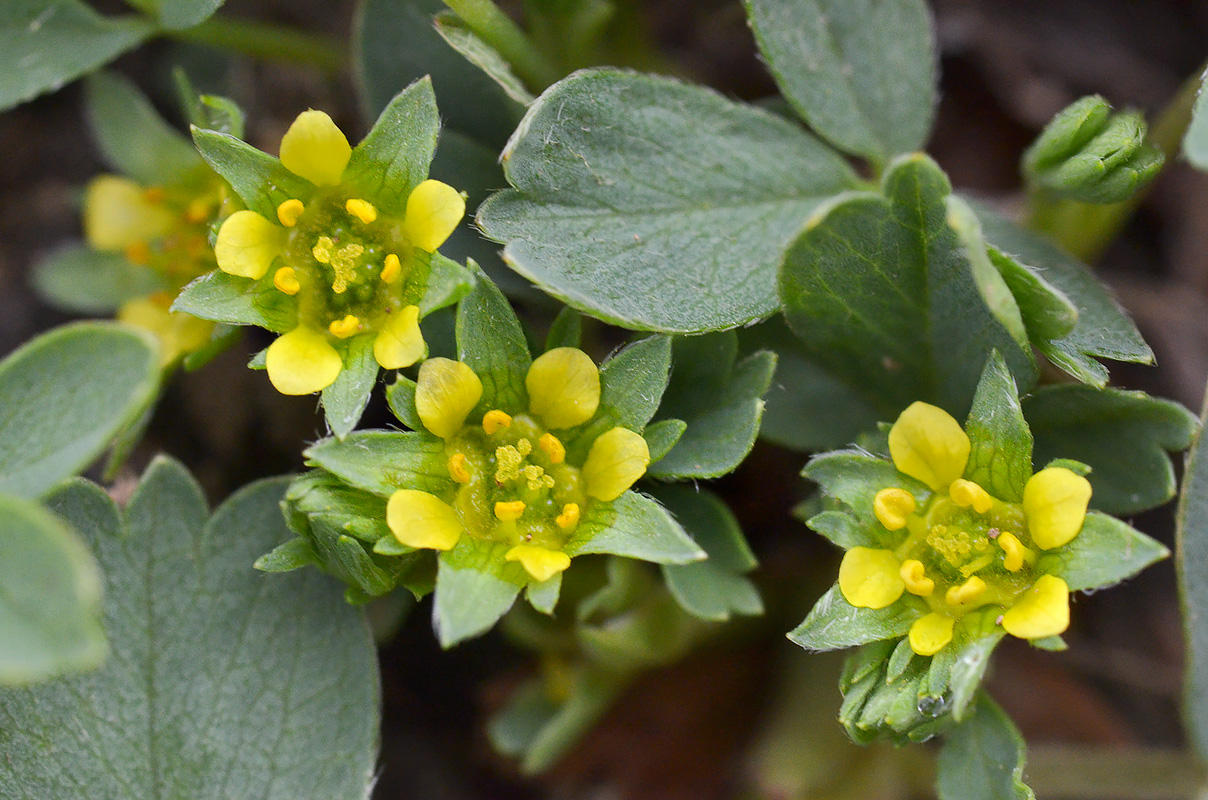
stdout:
<svg viewBox="0 0 1208 800">
<path fill-rule="evenodd" d="M 271 274 L 265 277 L 266 280 L 252 280 L 214 269 L 185 286 L 173 301 L 172 311 L 288 334 L 298 324 L 297 303 L 273 286 Z"/>
</svg>

